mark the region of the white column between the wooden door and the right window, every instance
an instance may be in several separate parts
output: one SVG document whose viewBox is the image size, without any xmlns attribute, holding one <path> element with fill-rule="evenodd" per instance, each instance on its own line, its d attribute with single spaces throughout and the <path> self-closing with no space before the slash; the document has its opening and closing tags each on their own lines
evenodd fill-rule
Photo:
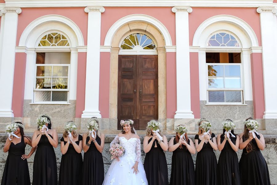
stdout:
<svg viewBox="0 0 277 185">
<path fill-rule="evenodd" d="M 191 111 L 188 13 L 191 7 L 173 7 L 176 24 L 177 111 L 174 118 L 194 118 Z"/>
</svg>

